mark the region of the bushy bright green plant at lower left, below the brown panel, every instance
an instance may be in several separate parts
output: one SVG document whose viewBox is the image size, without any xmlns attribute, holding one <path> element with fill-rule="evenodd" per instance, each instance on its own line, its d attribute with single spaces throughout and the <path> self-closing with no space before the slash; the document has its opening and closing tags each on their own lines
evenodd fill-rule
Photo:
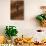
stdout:
<svg viewBox="0 0 46 46">
<path fill-rule="evenodd" d="M 11 38 L 13 37 L 13 36 L 17 36 L 17 33 L 18 33 L 18 31 L 17 31 L 17 29 L 16 29 L 16 27 L 15 26 L 6 26 L 6 29 L 5 29 L 6 31 L 5 31 L 5 35 L 8 37 L 8 42 L 10 42 L 11 41 Z"/>
</svg>

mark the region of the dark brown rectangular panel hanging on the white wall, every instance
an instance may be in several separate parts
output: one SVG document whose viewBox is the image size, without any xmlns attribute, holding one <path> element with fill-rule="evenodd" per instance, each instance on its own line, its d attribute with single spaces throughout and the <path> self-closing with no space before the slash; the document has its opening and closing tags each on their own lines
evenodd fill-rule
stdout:
<svg viewBox="0 0 46 46">
<path fill-rule="evenodd" d="M 11 20 L 24 19 L 24 0 L 11 0 Z"/>
</svg>

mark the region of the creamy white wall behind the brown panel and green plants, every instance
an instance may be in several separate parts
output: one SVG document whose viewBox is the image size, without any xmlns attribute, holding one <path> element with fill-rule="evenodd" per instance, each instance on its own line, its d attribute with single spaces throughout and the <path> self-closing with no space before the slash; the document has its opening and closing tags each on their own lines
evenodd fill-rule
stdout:
<svg viewBox="0 0 46 46">
<path fill-rule="evenodd" d="M 39 27 L 35 16 L 40 14 L 40 6 L 46 5 L 46 0 L 24 0 L 24 20 L 10 20 L 10 0 L 0 0 L 0 33 L 4 33 L 6 25 L 15 25 L 18 35 L 31 36 Z"/>
</svg>

